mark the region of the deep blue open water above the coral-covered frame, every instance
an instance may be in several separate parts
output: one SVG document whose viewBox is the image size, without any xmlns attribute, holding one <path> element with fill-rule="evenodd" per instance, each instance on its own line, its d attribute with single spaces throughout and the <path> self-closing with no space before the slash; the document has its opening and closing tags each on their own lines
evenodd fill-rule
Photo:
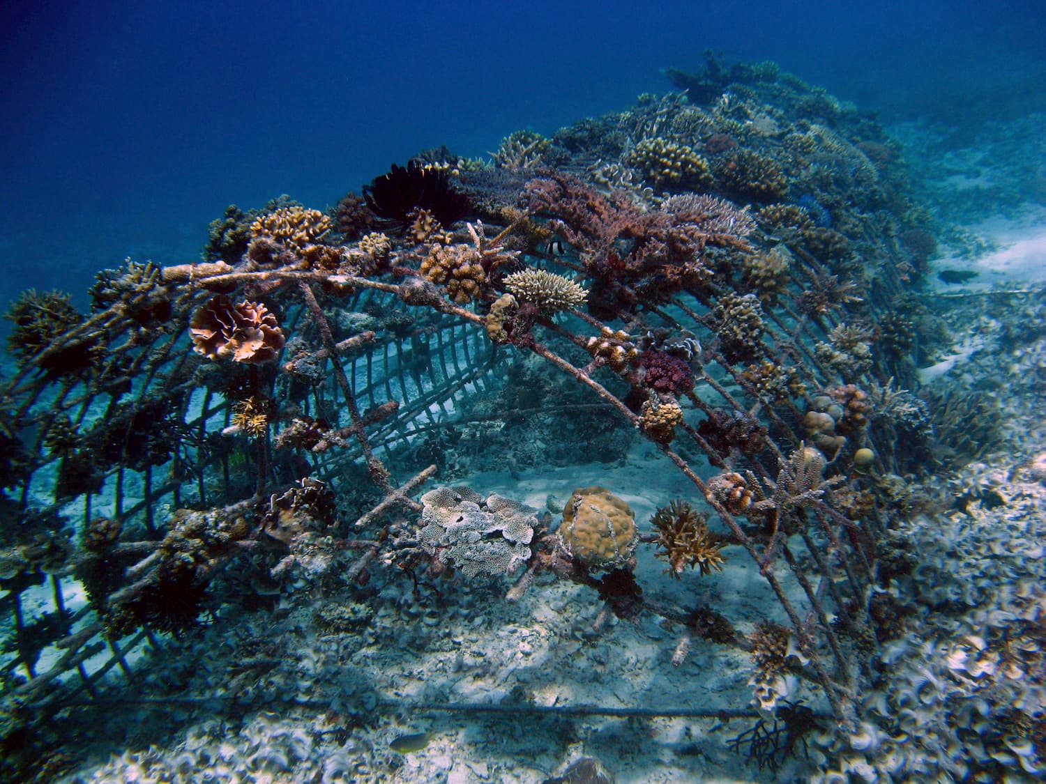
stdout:
<svg viewBox="0 0 1046 784">
<path fill-rule="evenodd" d="M 623 109 L 706 48 L 896 117 L 962 121 L 976 90 L 1046 106 L 1044 28 L 1016 1 L 8 1 L 0 301 L 196 259 L 229 203 L 321 207 L 424 147 Z"/>
</svg>

